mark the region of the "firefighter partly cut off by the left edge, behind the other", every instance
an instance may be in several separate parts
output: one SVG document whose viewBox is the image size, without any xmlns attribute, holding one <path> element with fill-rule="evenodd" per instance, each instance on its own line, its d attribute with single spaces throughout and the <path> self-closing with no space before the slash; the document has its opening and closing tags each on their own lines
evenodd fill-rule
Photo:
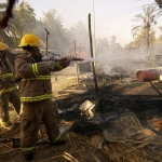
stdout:
<svg viewBox="0 0 162 162">
<path fill-rule="evenodd" d="M 16 54 L 9 51 L 9 46 L 0 41 L 0 127 L 14 127 L 9 117 L 9 103 L 17 114 L 21 109 L 19 92 L 13 82 L 15 78 L 14 58 Z"/>
</svg>

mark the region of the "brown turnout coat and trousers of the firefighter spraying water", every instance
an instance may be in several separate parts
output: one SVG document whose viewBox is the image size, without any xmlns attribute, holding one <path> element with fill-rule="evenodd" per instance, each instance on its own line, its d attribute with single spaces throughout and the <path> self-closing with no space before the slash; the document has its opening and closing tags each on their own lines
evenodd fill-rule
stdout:
<svg viewBox="0 0 162 162">
<path fill-rule="evenodd" d="M 51 143 L 59 138 L 56 108 L 52 98 L 51 71 L 62 70 L 69 65 L 56 63 L 54 69 L 48 69 L 45 62 L 35 63 L 30 53 L 15 58 L 15 70 L 23 78 L 19 83 L 21 93 L 21 144 L 24 152 L 32 151 L 37 141 L 41 121 L 46 127 Z"/>
</svg>

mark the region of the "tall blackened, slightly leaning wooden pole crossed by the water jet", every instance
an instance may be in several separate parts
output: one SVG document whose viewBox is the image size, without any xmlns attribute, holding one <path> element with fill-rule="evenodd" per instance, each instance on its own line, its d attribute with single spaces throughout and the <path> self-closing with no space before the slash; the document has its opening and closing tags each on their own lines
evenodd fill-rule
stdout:
<svg viewBox="0 0 162 162">
<path fill-rule="evenodd" d="M 90 36 L 91 57 L 94 57 L 94 55 L 93 55 L 92 32 L 91 32 L 91 14 L 89 14 L 89 36 Z M 95 73 L 94 62 L 92 62 L 92 70 L 93 70 L 93 77 L 94 77 L 95 91 L 96 91 L 96 94 L 98 94 L 98 86 L 97 86 L 97 79 L 96 79 L 96 73 Z"/>
</svg>

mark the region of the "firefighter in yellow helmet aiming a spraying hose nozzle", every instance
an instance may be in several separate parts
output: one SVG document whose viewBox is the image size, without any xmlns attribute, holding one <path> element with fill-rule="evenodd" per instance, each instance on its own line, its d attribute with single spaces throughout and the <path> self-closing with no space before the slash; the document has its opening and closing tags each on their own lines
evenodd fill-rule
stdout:
<svg viewBox="0 0 162 162">
<path fill-rule="evenodd" d="M 66 143 L 59 136 L 56 107 L 51 100 L 53 95 L 50 75 L 51 71 L 59 71 L 69 66 L 73 57 L 66 57 L 66 62 L 54 62 L 50 60 L 50 57 L 42 57 L 39 50 L 41 41 L 32 33 L 25 35 L 18 46 L 24 53 L 15 58 L 16 73 L 23 78 L 19 83 L 21 150 L 29 161 L 33 158 L 32 151 L 41 121 L 45 125 L 51 145 Z"/>
</svg>

